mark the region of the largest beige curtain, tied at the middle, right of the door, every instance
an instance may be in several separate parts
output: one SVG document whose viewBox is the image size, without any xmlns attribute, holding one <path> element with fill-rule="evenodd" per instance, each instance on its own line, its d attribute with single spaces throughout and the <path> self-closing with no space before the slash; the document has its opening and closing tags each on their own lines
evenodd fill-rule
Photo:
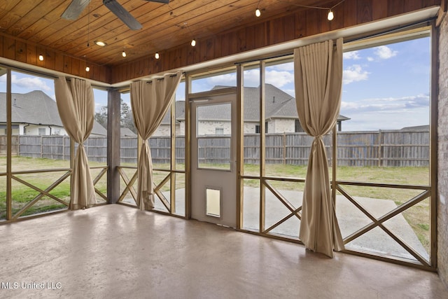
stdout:
<svg viewBox="0 0 448 299">
<path fill-rule="evenodd" d="M 342 90 L 342 39 L 294 50 L 295 97 L 300 124 L 314 137 L 305 181 L 300 239 L 311 251 L 333 256 L 344 249 L 331 198 L 323 135 L 335 126 Z"/>
</svg>

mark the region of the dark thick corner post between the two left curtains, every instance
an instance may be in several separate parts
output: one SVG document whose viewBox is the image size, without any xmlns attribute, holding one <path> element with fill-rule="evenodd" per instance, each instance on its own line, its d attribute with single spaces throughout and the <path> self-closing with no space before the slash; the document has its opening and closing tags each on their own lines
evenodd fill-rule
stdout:
<svg viewBox="0 0 448 299">
<path fill-rule="evenodd" d="M 107 90 L 107 202 L 115 204 L 120 197 L 120 92 Z"/>
</svg>

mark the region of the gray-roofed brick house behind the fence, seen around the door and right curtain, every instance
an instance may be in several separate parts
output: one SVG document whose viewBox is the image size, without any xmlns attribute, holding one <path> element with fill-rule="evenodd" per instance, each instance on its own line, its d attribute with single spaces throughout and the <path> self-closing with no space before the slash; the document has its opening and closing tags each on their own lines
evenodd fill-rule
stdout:
<svg viewBox="0 0 448 299">
<path fill-rule="evenodd" d="M 228 88 L 215 86 L 213 89 Z M 244 134 L 260 133 L 260 88 L 244 88 Z M 185 102 L 176 102 L 176 134 L 185 134 Z M 226 109 L 227 108 L 227 109 Z M 201 106 L 198 114 L 200 134 L 230 134 L 230 107 L 214 105 Z M 153 136 L 169 136 L 169 113 L 165 116 Z M 342 130 L 342 121 L 349 120 L 339 115 L 337 130 Z M 265 132 L 292 133 L 304 132 L 297 115 L 295 98 L 274 85 L 265 84 Z"/>
</svg>

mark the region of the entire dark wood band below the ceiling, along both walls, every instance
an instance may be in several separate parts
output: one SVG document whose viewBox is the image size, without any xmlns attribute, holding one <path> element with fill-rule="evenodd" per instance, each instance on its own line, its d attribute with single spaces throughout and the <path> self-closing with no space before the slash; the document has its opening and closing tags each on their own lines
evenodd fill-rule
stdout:
<svg viewBox="0 0 448 299">
<path fill-rule="evenodd" d="M 440 6 L 441 2 L 445 1 L 346 0 L 333 10 L 335 20 L 331 22 L 326 19 L 325 10 L 311 8 L 303 11 L 297 8 L 297 11 L 285 13 L 271 20 L 199 39 L 195 48 L 188 43 L 160 51 L 160 60 L 155 59 L 154 53 L 148 53 L 148 57 L 109 67 L 91 64 L 83 59 L 58 53 L 49 48 L 41 48 L 4 34 L 0 34 L 2 45 L 0 56 L 95 81 L 119 83 L 305 36 L 381 20 L 421 8 Z M 38 60 L 40 54 L 44 55 L 42 62 Z M 90 67 L 89 72 L 85 71 L 87 63 Z"/>
</svg>

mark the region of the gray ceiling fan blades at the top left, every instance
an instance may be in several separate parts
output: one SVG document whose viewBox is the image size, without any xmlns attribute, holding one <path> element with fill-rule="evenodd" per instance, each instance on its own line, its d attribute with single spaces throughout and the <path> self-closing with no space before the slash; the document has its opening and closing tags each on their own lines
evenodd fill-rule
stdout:
<svg viewBox="0 0 448 299">
<path fill-rule="evenodd" d="M 158 2 L 162 4 L 168 4 L 169 0 L 144 0 L 150 2 Z M 72 0 L 71 4 L 67 6 L 64 13 L 62 13 L 61 18 L 66 20 L 76 20 L 80 13 L 83 12 L 85 6 L 90 3 L 90 0 Z M 123 8 L 116 0 L 103 0 L 103 4 L 109 8 L 114 15 L 116 15 L 120 20 L 130 27 L 132 30 L 141 29 L 141 24 L 132 15 Z"/>
</svg>

